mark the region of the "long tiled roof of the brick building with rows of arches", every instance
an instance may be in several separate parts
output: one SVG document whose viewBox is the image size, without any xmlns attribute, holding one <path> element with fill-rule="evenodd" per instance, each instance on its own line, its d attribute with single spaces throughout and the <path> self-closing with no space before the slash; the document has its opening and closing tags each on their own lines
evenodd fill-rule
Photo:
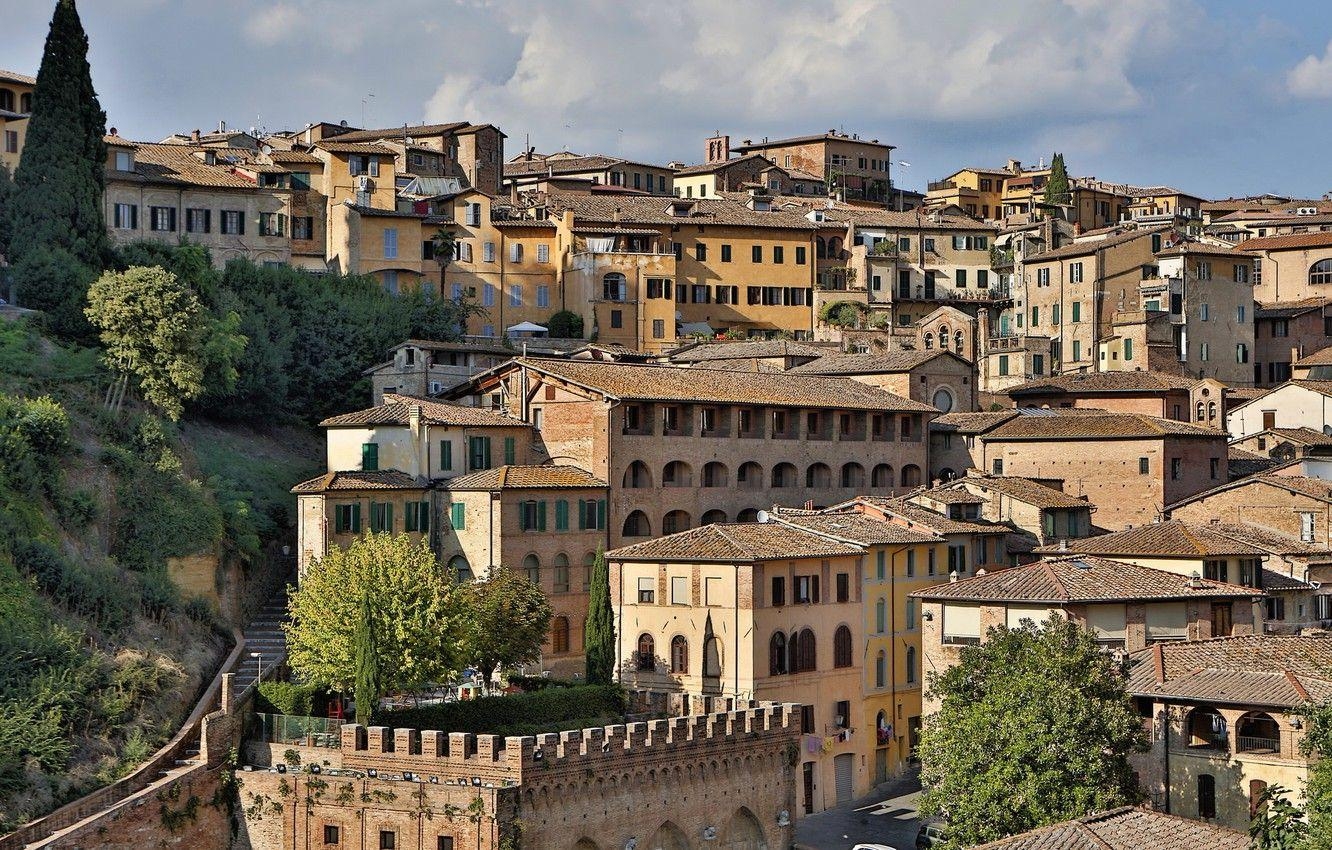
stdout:
<svg viewBox="0 0 1332 850">
<path fill-rule="evenodd" d="M 529 366 L 614 398 L 643 401 L 711 401 L 719 404 L 899 410 L 931 413 L 934 408 L 851 381 L 787 373 L 731 372 L 702 366 L 649 366 L 587 360 L 518 358 Z M 505 365 L 497 369 L 509 368 Z"/>
</svg>

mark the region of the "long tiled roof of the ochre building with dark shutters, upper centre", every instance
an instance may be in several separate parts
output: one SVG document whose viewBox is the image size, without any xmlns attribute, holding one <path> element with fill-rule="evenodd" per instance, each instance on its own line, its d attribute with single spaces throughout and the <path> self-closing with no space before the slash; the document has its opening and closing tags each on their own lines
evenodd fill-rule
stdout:
<svg viewBox="0 0 1332 850">
<path fill-rule="evenodd" d="M 722 199 L 678 199 L 662 196 L 593 196 L 573 192 L 551 192 L 550 205 L 555 213 L 570 211 L 578 224 L 589 221 L 617 225 L 739 225 L 754 228 L 782 228 L 813 230 L 803 216 L 787 212 L 758 212 L 745 204 Z M 671 205 L 689 207 L 689 212 L 674 216 Z"/>
</svg>

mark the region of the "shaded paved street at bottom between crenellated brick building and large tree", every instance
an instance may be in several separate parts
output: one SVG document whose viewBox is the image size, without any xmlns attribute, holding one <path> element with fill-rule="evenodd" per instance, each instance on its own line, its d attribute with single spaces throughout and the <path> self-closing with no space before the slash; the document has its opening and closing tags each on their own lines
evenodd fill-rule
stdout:
<svg viewBox="0 0 1332 850">
<path fill-rule="evenodd" d="M 886 782 L 854 803 L 801 818 L 795 843 L 802 850 L 850 850 L 856 842 L 914 850 L 915 799 L 920 783 L 915 778 Z"/>
</svg>

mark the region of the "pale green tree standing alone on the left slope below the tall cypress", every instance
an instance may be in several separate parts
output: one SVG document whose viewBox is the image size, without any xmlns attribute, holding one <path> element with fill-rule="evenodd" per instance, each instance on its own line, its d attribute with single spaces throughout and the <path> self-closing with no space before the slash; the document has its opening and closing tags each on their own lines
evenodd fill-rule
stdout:
<svg viewBox="0 0 1332 850">
<path fill-rule="evenodd" d="M 88 290 L 88 321 L 100 332 L 104 361 L 119 376 L 108 406 L 119 410 L 133 380 L 144 401 L 178 420 L 204 392 L 209 328 L 189 286 L 161 268 L 107 272 Z"/>
</svg>

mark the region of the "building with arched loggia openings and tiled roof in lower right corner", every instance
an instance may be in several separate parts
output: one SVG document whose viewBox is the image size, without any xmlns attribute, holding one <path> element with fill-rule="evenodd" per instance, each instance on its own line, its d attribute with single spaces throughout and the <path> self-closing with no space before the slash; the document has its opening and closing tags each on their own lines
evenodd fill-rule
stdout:
<svg viewBox="0 0 1332 850">
<path fill-rule="evenodd" d="M 1332 695 L 1327 637 L 1156 643 L 1131 663 L 1128 691 L 1151 733 L 1135 766 L 1158 809 L 1244 830 L 1268 786 L 1304 787 L 1309 759 L 1291 710 Z"/>
</svg>

